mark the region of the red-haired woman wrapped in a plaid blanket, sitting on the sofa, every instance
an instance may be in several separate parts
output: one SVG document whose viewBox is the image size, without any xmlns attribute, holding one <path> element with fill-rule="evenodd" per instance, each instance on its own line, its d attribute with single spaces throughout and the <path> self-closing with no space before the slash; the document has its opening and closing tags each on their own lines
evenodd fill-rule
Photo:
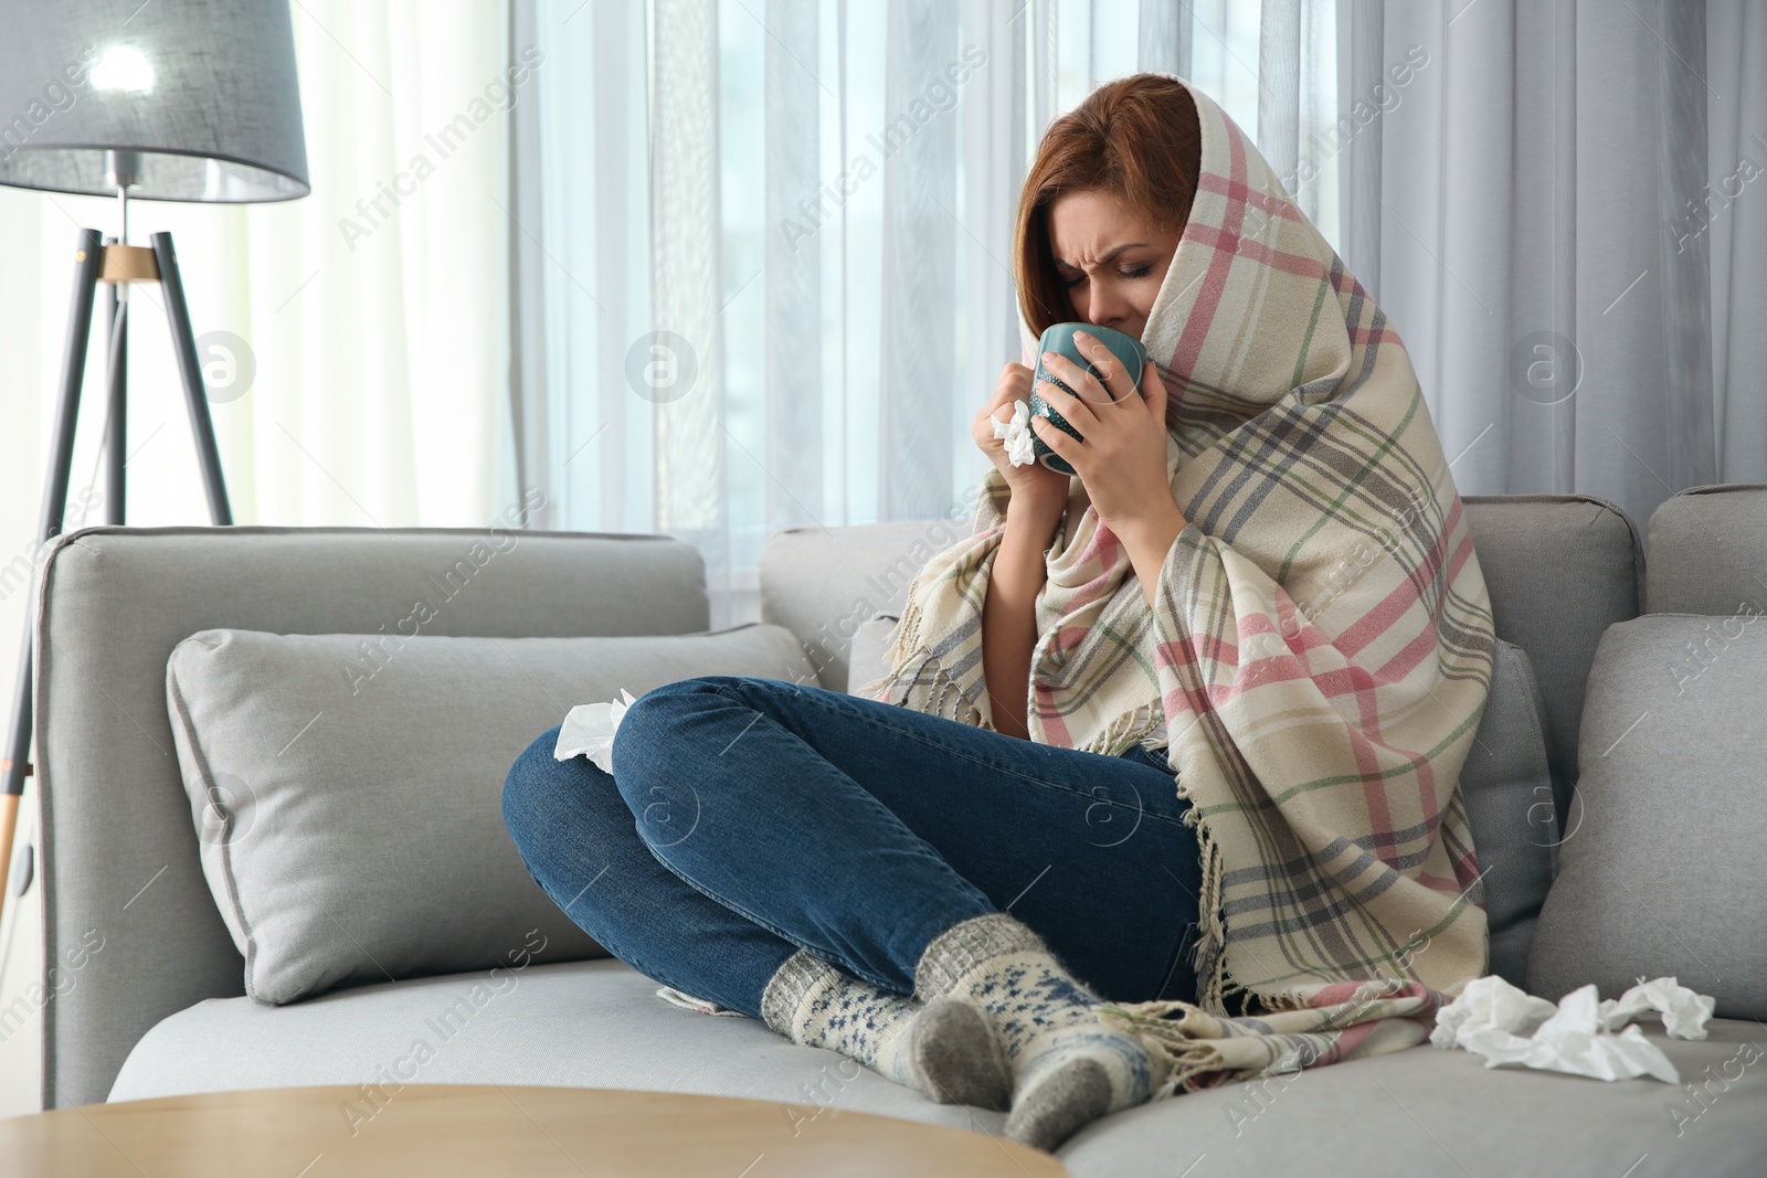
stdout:
<svg viewBox="0 0 1767 1178">
<path fill-rule="evenodd" d="M 1016 238 L 1027 341 L 1156 360 L 1043 357 L 1078 477 L 1009 461 L 1007 364 L 885 678 L 659 687 L 611 777 L 553 729 L 504 814 L 622 961 L 1053 1150 L 1415 1044 L 1483 973 L 1456 782 L 1493 641 L 1403 344 L 1207 95 L 1140 74 L 1055 120 Z"/>
</svg>

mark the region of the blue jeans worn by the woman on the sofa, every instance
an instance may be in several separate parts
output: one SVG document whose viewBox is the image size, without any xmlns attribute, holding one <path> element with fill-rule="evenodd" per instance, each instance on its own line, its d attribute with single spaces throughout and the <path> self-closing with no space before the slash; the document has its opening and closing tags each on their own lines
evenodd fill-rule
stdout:
<svg viewBox="0 0 1767 1178">
<path fill-rule="evenodd" d="M 1194 1000 L 1196 834 L 1163 752 L 1080 752 L 785 680 L 686 678 L 620 721 L 613 774 L 509 770 L 534 881 L 610 954 L 760 1017 L 806 948 L 912 993 L 926 945 L 1011 911 L 1111 1001 Z"/>
</svg>

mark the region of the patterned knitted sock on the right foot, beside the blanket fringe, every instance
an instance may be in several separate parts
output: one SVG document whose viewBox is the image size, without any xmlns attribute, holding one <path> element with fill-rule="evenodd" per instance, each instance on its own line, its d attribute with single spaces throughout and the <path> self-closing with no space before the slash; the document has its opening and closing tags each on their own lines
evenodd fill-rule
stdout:
<svg viewBox="0 0 1767 1178">
<path fill-rule="evenodd" d="M 1164 1079 L 1138 1040 L 1099 1023 L 1097 994 L 1005 913 L 938 934 L 915 966 L 915 993 L 967 998 L 993 1016 L 1012 1063 L 1005 1134 L 1039 1150 L 1053 1152 L 1088 1121 L 1147 1100 Z"/>
</svg>

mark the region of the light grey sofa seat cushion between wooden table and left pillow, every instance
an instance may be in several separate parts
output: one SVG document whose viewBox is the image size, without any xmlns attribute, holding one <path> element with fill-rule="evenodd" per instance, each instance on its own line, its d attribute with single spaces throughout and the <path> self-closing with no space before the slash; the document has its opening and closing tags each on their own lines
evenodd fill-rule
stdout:
<svg viewBox="0 0 1767 1178">
<path fill-rule="evenodd" d="M 110 1099 L 376 1083 L 396 1099 L 401 1083 L 498 1083 L 749 1097 L 995 1132 L 1005 1121 L 656 991 L 601 959 L 355 985 L 283 1007 L 210 998 L 154 1026 Z"/>
</svg>

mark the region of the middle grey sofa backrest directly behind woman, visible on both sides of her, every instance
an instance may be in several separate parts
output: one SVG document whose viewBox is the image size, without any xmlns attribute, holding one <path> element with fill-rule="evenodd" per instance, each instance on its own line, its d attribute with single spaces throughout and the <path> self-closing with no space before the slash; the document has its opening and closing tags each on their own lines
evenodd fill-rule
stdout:
<svg viewBox="0 0 1767 1178">
<path fill-rule="evenodd" d="M 1463 503 L 1497 636 L 1528 652 L 1546 698 L 1562 819 L 1596 643 L 1608 625 L 1636 618 L 1643 600 L 1638 530 L 1619 507 L 1587 495 L 1472 495 Z M 859 625 L 899 613 L 926 558 L 968 530 L 968 519 L 785 528 L 762 547 L 762 620 L 795 632 L 822 685 L 846 691 Z"/>
</svg>

